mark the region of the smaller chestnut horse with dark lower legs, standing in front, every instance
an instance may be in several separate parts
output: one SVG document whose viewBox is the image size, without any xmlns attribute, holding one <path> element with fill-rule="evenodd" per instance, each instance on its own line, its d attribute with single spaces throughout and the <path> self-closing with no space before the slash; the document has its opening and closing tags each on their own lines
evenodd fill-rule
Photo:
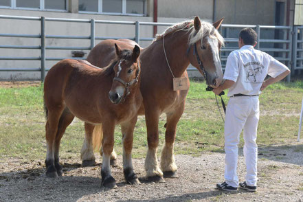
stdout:
<svg viewBox="0 0 303 202">
<path fill-rule="evenodd" d="M 63 173 L 59 164 L 60 139 L 76 116 L 85 122 L 88 137 L 95 125 L 102 124 L 102 185 L 115 187 L 110 157 L 116 124 L 122 126 L 124 177 L 128 183 L 139 183 L 131 162 L 133 130 L 142 105 L 139 52 L 137 45 L 133 51 L 115 45 L 116 57 L 104 69 L 85 60 L 66 59 L 49 70 L 44 83 L 47 177 Z"/>
</svg>

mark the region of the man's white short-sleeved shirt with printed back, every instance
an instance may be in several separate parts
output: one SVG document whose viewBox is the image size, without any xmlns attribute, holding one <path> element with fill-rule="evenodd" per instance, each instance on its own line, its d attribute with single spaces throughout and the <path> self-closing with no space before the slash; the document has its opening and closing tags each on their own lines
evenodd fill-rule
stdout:
<svg viewBox="0 0 303 202">
<path fill-rule="evenodd" d="M 244 45 L 231 52 L 227 58 L 223 79 L 236 82 L 229 88 L 227 96 L 234 94 L 258 95 L 267 74 L 276 78 L 287 66 L 265 52 Z"/>
</svg>

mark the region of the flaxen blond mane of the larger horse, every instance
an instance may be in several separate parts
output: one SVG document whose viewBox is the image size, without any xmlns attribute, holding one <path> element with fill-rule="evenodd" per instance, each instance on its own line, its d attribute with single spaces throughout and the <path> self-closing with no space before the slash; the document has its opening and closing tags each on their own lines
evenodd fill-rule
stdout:
<svg viewBox="0 0 303 202">
<path fill-rule="evenodd" d="M 174 34 L 175 32 L 179 31 L 190 32 L 188 37 L 188 45 L 192 45 L 197 41 L 202 40 L 205 36 L 209 36 L 210 38 L 217 38 L 218 43 L 220 43 L 221 46 L 224 45 L 223 36 L 221 36 L 218 30 L 216 30 L 211 23 L 201 21 L 201 28 L 198 32 L 196 32 L 194 29 L 194 20 L 183 21 L 181 23 L 176 23 L 175 25 L 168 27 L 162 34 L 157 34 L 154 38 L 154 41 L 158 41 L 164 36 Z"/>
</svg>

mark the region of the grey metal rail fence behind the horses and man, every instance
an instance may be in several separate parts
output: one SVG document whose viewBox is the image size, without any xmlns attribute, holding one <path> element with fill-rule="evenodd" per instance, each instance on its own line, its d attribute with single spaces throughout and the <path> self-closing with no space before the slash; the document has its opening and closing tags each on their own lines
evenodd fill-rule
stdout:
<svg viewBox="0 0 303 202">
<path fill-rule="evenodd" d="M 81 49 L 81 50 L 89 50 L 95 46 L 96 40 L 104 40 L 104 39 L 117 39 L 123 37 L 105 37 L 105 36 L 96 36 L 96 23 L 98 24 L 120 24 L 120 25 L 135 25 L 135 36 L 134 37 L 124 37 L 130 40 L 136 41 L 140 43 L 140 41 L 153 41 L 153 37 L 142 37 L 140 38 L 139 28 L 141 25 L 159 25 L 159 26 L 170 26 L 174 25 L 174 23 L 154 23 L 154 22 L 139 22 L 139 21 L 102 21 L 95 19 L 58 19 L 58 18 L 45 18 L 45 17 L 27 17 L 27 16 L 3 16 L 0 15 L 0 19 L 14 19 L 14 20 L 30 20 L 30 21 L 41 21 L 41 34 L 0 34 L 3 37 L 23 37 L 23 38 L 41 38 L 41 46 L 30 46 L 30 45 L 0 45 L 0 48 L 7 49 L 41 49 L 41 57 L 0 57 L 0 60 L 41 60 L 41 68 L 10 68 L 10 70 L 5 68 L 0 68 L 0 71 L 41 71 L 41 81 L 45 78 L 45 60 L 62 60 L 64 58 L 56 58 L 56 57 L 46 57 L 45 49 L 58 49 L 58 50 L 69 50 L 69 49 Z M 63 36 L 63 35 L 46 35 L 45 34 L 45 21 L 55 21 L 55 22 L 69 22 L 69 23 L 90 23 L 91 25 L 91 34 L 89 36 Z M 255 28 L 258 33 L 257 45 L 256 49 L 261 49 L 265 52 L 278 52 L 282 54 L 282 57 L 276 57 L 280 61 L 285 61 L 288 65 L 290 65 L 291 60 L 293 60 L 293 68 L 294 69 L 303 69 L 303 45 L 299 44 L 299 48 L 297 47 L 298 43 L 303 43 L 303 34 L 299 36 L 298 29 L 302 29 L 303 26 L 298 28 L 293 28 L 289 26 L 267 26 L 267 25 L 229 25 L 224 24 L 221 25 L 222 28 L 226 29 L 227 37 L 225 38 L 226 43 L 236 43 L 238 42 L 238 38 L 229 38 L 229 29 L 232 28 L 242 28 L 242 27 L 251 27 Z M 261 29 L 280 29 L 284 31 L 283 39 L 262 39 L 260 38 Z M 291 37 L 291 32 L 295 31 L 295 35 L 293 38 Z M 288 37 L 287 37 L 288 35 Z M 90 40 L 89 47 L 65 47 L 65 46 L 45 46 L 45 38 L 65 38 L 65 39 L 87 39 Z M 283 48 L 260 48 L 260 43 L 282 43 Z M 288 47 L 287 47 L 288 46 Z M 221 52 L 232 52 L 234 49 L 238 49 L 238 47 L 226 47 L 223 48 Z M 74 58 L 74 59 L 85 59 L 85 58 Z M 227 60 L 227 56 L 221 57 L 222 61 Z M 297 65 L 299 64 L 299 66 Z"/>
</svg>

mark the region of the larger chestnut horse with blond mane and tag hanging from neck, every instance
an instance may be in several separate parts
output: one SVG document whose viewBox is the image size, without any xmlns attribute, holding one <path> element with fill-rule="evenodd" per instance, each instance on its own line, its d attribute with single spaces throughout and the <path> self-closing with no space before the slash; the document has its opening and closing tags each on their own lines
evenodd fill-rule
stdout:
<svg viewBox="0 0 303 202">
<path fill-rule="evenodd" d="M 219 50 L 224 44 L 218 33 L 223 19 L 213 25 L 200 21 L 177 23 L 158 35 L 153 43 L 142 49 L 142 82 L 140 90 L 143 106 L 139 115 L 145 114 L 147 126 L 148 152 L 145 161 L 146 176 L 154 181 L 164 181 L 163 175 L 175 177 L 177 165 L 173 147 L 177 123 L 183 113 L 188 89 L 174 91 L 173 78 L 186 78 L 189 64 L 196 67 L 206 78 L 207 85 L 218 87 L 223 79 Z M 87 60 L 93 65 L 104 67 L 113 57 L 113 44 L 128 48 L 134 44 L 129 40 L 105 40 L 96 45 Z M 106 55 L 107 58 L 103 56 Z M 102 56 L 102 57 L 100 57 Z M 161 113 L 166 113 L 165 144 L 161 152 L 161 169 L 157 163 L 157 146 L 159 143 L 158 124 Z M 85 144 L 91 137 L 86 137 Z M 83 158 L 84 156 L 89 158 Z M 93 150 L 82 150 L 82 161 L 94 162 Z M 163 174 L 163 172 L 164 174 Z"/>
</svg>

